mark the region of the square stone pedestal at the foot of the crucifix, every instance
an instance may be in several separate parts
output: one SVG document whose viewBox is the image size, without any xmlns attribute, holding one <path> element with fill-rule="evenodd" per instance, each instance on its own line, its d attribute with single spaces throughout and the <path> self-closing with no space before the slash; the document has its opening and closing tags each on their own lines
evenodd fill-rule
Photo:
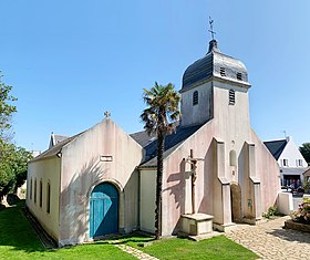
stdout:
<svg viewBox="0 0 310 260">
<path fill-rule="evenodd" d="M 189 236 L 210 233 L 213 232 L 213 218 L 206 214 L 182 215 L 182 231 Z"/>
</svg>

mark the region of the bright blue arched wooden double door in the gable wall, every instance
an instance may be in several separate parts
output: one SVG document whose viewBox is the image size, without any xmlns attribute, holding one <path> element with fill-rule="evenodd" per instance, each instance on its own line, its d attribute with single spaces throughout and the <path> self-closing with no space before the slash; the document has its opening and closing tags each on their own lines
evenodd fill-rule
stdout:
<svg viewBox="0 0 310 260">
<path fill-rule="evenodd" d="M 114 185 L 97 185 L 90 199 L 90 237 L 118 232 L 118 191 Z"/>
</svg>

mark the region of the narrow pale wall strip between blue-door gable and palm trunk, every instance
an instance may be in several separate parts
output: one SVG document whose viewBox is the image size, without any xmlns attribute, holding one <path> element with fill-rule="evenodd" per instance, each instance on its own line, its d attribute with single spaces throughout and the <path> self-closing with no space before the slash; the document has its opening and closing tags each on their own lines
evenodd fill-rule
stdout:
<svg viewBox="0 0 310 260">
<path fill-rule="evenodd" d="M 140 227 L 155 232 L 156 170 L 143 169 L 140 173 Z"/>
</svg>

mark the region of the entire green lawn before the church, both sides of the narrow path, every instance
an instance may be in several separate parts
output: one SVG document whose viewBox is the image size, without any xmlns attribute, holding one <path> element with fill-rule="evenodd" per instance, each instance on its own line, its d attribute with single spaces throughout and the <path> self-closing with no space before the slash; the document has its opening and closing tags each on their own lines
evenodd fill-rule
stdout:
<svg viewBox="0 0 310 260">
<path fill-rule="evenodd" d="M 0 259 L 136 259 L 111 245 L 113 240 L 97 241 L 56 250 L 42 247 L 32 227 L 21 211 L 24 201 L 0 211 Z M 194 242 L 187 239 L 163 239 L 147 247 L 141 243 L 153 241 L 143 236 L 125 236 L 117 239 L 158 259 L 257 259 L 258 257 L 224 236 Z"/>
</svg>

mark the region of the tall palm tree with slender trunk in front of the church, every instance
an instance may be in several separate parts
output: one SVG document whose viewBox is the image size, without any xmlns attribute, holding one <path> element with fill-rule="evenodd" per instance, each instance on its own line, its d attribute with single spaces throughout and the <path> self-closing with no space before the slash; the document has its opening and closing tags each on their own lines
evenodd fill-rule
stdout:
<svg viewBox="0 0 310 260">
<path fill-rule="evenodd" d="M 147 105 L 141 115 L 145 123 L 144 129 L 148 135 L 157 136 L 157 178 L 156 178 L 156 209 L 155 209 L 155 237 L 159 239 L 162 235 L 162 186 L 163 186 L 163 155 L 165 147 L 165 136 L 175 129 L 175 123 L 179 119 L 180 113 L 178 104 L 179 94 L 174 85 L 155 85 L 148 91 L 143 90 L 143 100 Z"/>
</svg>

